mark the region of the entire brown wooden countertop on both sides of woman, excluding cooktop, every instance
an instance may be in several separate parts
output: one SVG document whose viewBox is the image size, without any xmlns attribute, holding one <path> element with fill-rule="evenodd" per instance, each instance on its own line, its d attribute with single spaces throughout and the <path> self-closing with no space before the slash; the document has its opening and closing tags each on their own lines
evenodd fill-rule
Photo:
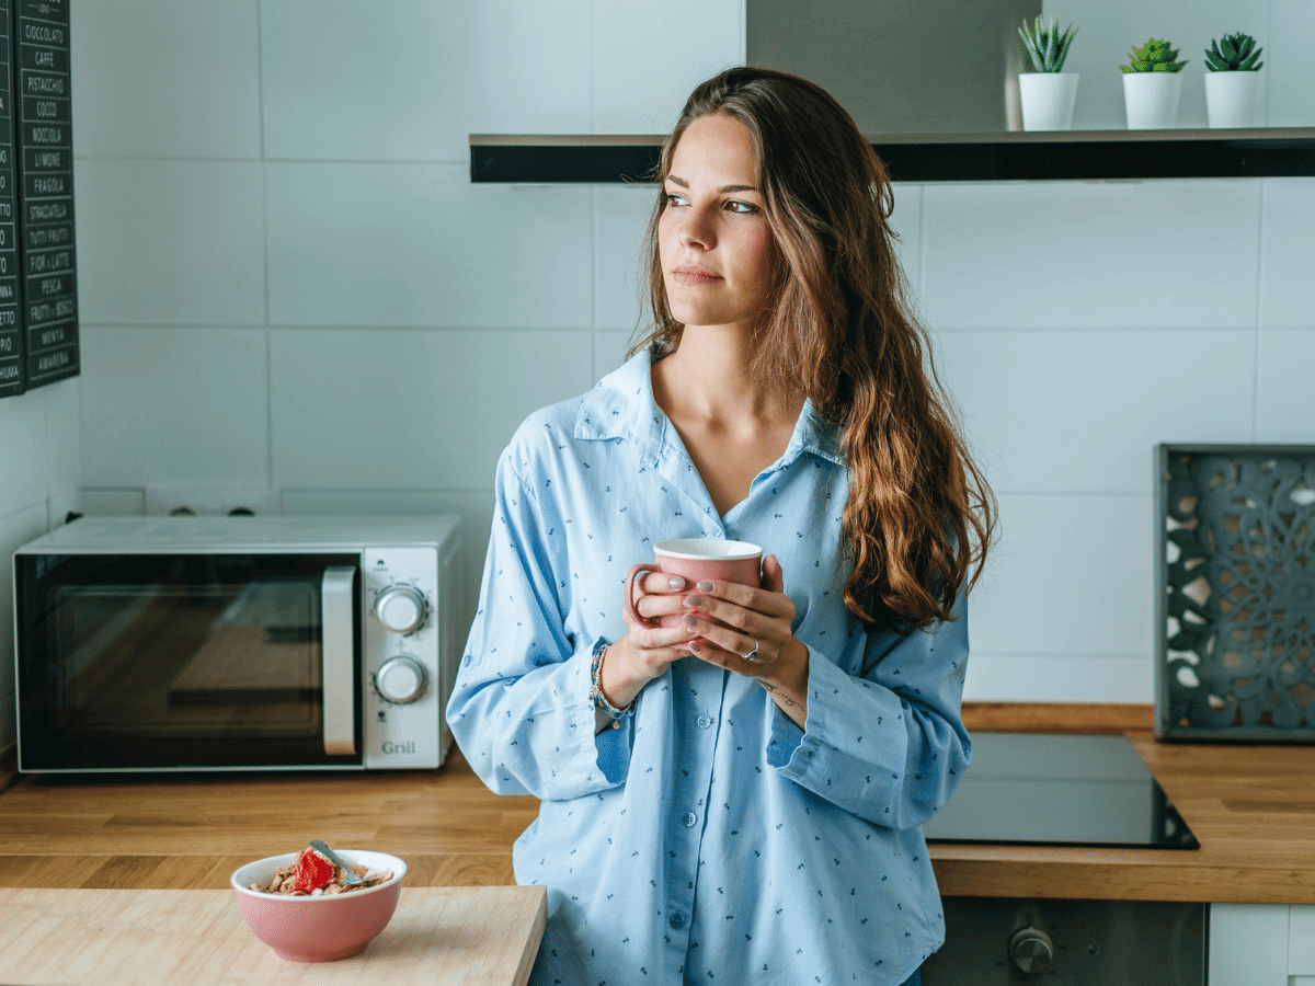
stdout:
<svg viewBox="0 0 1315 986">
<path fill-rule="evenodd" d="M 970 730 L 1124 732 L 1199 849 L 931 844 L 947 897 L 1315 903 L 1315 745 L 1160 743 L 1141 706 L 974 706 Z M 0 793 L 0 886 L 225 887 L 309 839 L 406 858 L 408 886 L 514 882 L 534 798 L 434 772 L 64 778 Z"/>
</svg>

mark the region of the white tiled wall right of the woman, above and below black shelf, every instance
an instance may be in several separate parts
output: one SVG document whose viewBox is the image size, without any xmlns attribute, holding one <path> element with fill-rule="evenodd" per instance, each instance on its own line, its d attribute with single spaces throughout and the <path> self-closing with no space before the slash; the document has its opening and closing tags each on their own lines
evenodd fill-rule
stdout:
<svg viewBox="0 0 1315 986">
<path fill-rule="evenodd" d="M 1047 0 L 1074 129 L 1120 129 L 1128 51 L 1265 49 L 1266 124 L 1315 126 L 1310 0 Z M 917 283 L 1002 507 L 968 694 L 1153 699 L 1152 447 L 1315 443 L 1315 180 L 928 185 Z M 917 205 L 914 205 L 917 201 Z"/>
</svg>

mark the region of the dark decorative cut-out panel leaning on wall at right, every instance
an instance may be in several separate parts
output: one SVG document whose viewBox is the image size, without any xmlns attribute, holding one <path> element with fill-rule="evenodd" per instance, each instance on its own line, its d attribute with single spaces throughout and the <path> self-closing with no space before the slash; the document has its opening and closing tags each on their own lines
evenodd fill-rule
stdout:
<svg viewBox="0 0 1315 986">
<path fill-rule="evenodd" d="M 1156 732 L 1315 741 L 1315 446 L 1160 446 Z"/>
</svg>

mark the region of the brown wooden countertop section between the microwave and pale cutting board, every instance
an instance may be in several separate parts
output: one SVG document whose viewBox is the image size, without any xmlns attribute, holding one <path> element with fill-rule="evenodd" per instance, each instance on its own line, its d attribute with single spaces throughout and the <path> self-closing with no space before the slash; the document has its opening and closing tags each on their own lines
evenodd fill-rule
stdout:
<svg viewBox="0 0 1315 986">
<path fill-rule="evenodd" d="M 537 814 L 455 752 L 438 770 L 24 774 L 0 793 L 0 886 L 227 887 L 312 839 L 401 856 L 408 886 L 508 885 Z"/>
</svg>

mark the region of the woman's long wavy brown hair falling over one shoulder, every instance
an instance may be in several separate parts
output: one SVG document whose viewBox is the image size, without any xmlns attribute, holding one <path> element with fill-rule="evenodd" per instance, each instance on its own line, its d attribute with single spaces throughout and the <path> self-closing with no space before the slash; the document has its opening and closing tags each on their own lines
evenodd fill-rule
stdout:
<svg viewBox="0 0 1315 986">
<path fill-rule="evenodd" d="M 690 95 L 661 147 L 665 181 L 685 129 L 707 113 L 742 122 L 784 264 L 757 329 L 753 377 L 807 397 L 842 436 L 849 490 L 844 602 L 863 622 L 903 628 L 952 619 L 981 575 L 995 500 L 973 464 L 911 314 L 889 218 L 890 176 L 849 114 L 794 75 L 736 67 Z M 658 221 L 646 266 L 655 319 L 631 348 L 671 352 L 684 326 L 667 301 Z"/>
</svg>

